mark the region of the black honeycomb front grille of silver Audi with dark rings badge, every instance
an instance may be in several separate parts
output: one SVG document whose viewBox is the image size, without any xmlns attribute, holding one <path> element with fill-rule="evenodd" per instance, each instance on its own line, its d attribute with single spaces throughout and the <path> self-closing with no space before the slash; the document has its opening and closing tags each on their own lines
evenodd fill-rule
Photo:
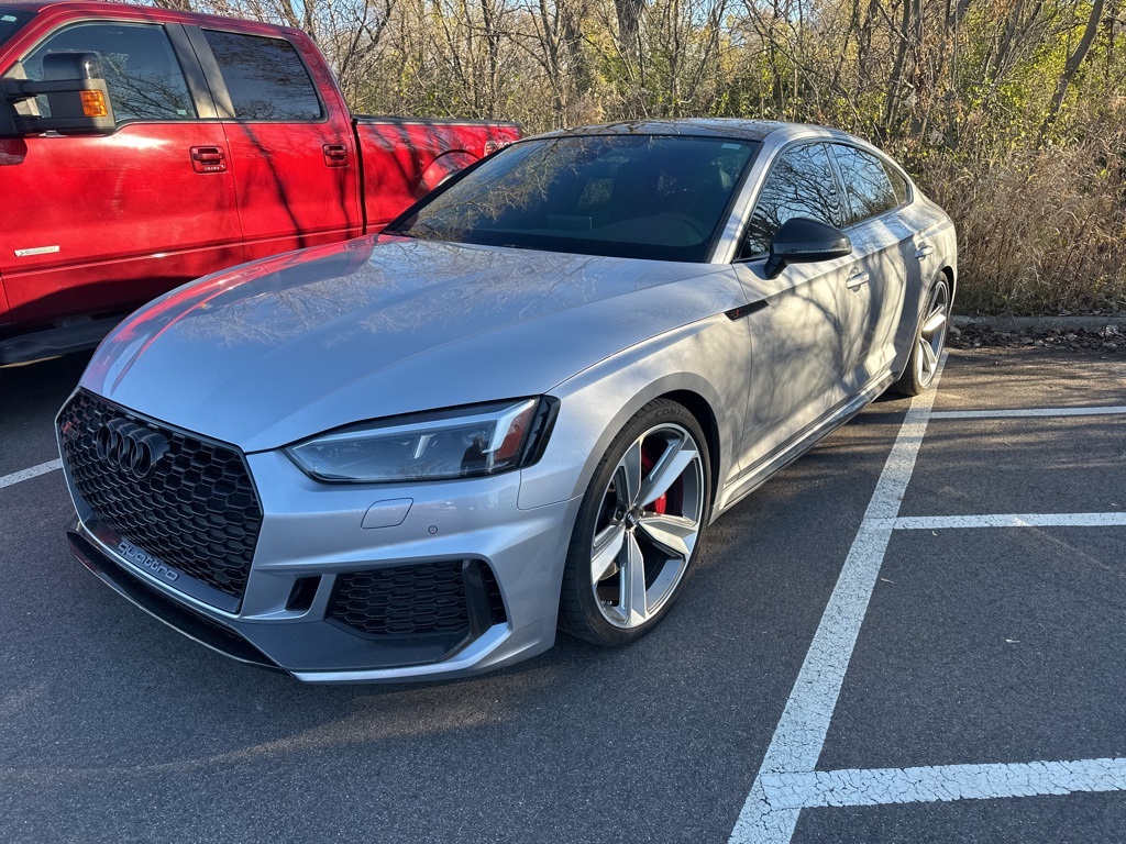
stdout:
<svg viewBox="0 0 1126 844">
<path fill-rule="evenodd" d="M 262 524 L 241 452 L 84 390 L 59 428 L 70 477 L 99 526 L 241 602 Z"/>
</svg>

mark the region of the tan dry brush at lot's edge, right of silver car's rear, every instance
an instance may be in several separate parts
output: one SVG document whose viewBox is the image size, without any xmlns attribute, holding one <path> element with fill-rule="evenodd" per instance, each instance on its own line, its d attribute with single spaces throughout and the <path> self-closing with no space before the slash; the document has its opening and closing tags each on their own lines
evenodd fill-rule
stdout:
<svg viewBox="0 0 1126 844">
<path fill-rule="evenodd" d="M 930 159 L 921 181 L 958 227 L 960 312 L 1126 311 L 1126 131 L 1115 128 L 1004 160 Z"/>
</svg>

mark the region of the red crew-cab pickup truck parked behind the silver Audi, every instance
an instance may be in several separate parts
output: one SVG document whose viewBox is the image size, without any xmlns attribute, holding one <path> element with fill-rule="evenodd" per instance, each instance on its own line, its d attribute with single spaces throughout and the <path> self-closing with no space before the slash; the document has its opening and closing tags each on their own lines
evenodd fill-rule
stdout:
<svg viewBox="0 0 1126 844">
<path fill-rule="evenodd" d="M 378 231 L 515 124 L 354 117 L 302 32 L 0 0 L 0 365 L 198 276 Z"/>
</svg>

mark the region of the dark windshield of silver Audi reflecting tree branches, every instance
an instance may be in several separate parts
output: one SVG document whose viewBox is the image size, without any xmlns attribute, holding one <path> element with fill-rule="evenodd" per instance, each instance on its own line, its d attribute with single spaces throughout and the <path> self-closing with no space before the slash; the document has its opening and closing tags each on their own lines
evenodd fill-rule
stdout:
<svg viewBox="0 0 1126 844">
<path fill-rule="evenodd" d="M 388 234 L 555 252 L 703 261 L 758 144 L 587 135 L 513 144 Z"/>
</svg>

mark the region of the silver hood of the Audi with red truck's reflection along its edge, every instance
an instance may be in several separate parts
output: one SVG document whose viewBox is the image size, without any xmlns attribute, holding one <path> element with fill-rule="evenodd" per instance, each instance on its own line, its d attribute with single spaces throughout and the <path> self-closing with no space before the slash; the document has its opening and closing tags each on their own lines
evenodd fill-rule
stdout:
<svg viewBox="0 0 1126 844">
<path fill-rule="evenodd" d="M 256 451 L 542 394 L 739 298 L 717 266 L 363 237 L 164 295 L 115 330 L 82 385 Z"/>
</svg>

